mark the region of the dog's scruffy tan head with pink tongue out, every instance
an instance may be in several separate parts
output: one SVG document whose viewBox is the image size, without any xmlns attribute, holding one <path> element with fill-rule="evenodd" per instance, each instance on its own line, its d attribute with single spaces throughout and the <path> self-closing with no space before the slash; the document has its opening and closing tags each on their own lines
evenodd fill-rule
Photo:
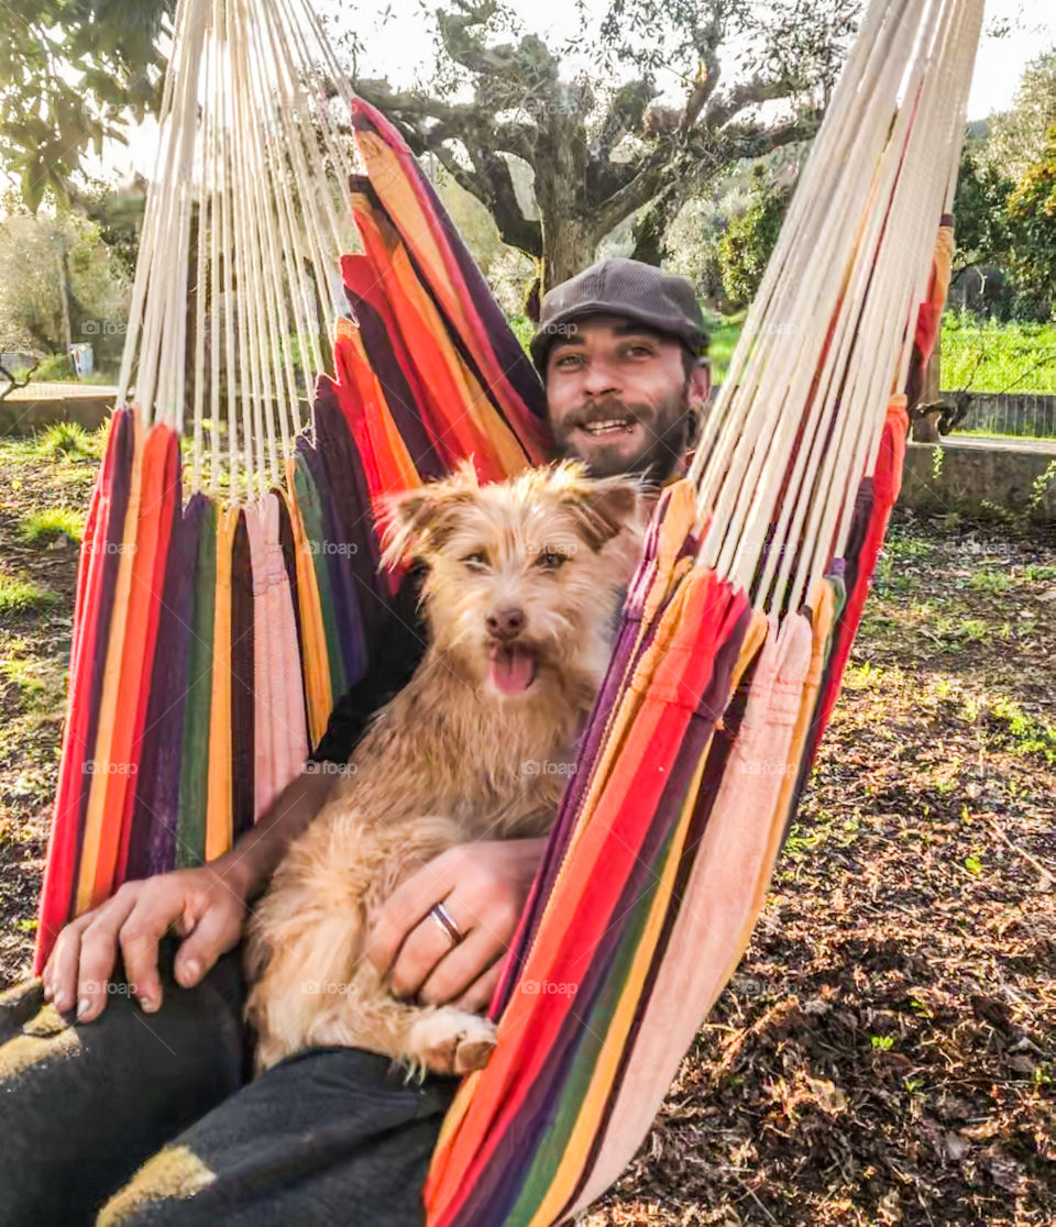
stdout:
<svg viewBox="0 0 1056 1227">
<path fill-rule="evenodd" d="M 516 702 L 604 674 L 646 502 L 634 477 L 577 461 L 479 486 L 473 467 L 389 502 L 383 561 L 420 558 L 432 650 Z"/>
</svg>

